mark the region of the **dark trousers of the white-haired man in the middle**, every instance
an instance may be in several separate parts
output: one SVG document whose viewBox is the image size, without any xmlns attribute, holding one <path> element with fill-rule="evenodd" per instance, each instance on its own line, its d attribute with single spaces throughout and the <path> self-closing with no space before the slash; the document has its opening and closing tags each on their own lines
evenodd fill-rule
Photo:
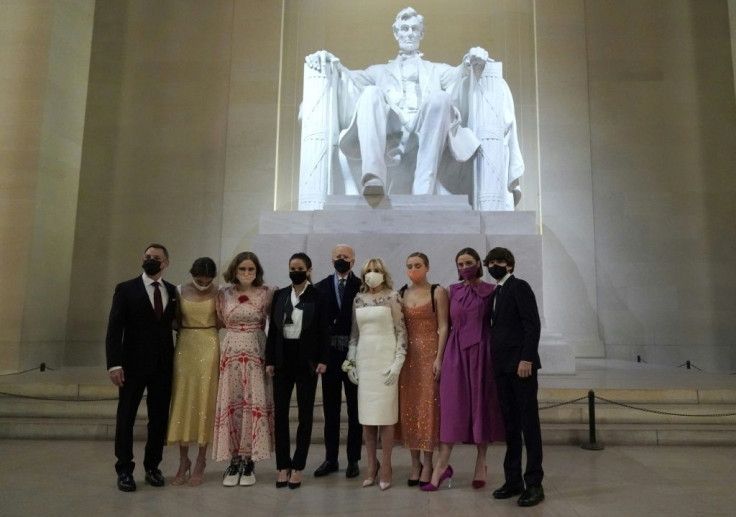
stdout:
<svg viewBox="0 0 736 517">
<path fill-rule="evenodd" d="M 342 390 L 348 408 L 348 462 L 360 461 L 363 446 L 363 426 L 358 421 L 358 386 L 342 371 L 347 350 L 330 347 L 327 371 L 322 374 L 322 403 L 325 415 L 325 460 L 337 463 L 340 448 L 340 413 Z"/>
</svg>

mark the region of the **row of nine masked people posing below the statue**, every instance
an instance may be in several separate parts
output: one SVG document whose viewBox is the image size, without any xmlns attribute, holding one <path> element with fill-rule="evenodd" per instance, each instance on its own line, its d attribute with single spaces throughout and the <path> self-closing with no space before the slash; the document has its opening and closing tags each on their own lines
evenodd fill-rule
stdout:
<svg viewBox="0 0 736 517">
<path fill-rule="evenodd" d="M 364 442 L 363 487 L 391 487 L 392 451 L 399 441 L 411 453 L 407 483 L 423 491 L 436 491 L 445 481 L 450 485 L 454 444 L 475 444 L 472 486 L 480 489 L 486 485 L 488 444 L 506 441 L 505 483 L 493 497 L 519 496 L 520 506 L 544 499 L 539 313 L 529 284 L 513 275 L 515 259 L 508 249 L 494 248 L 484 260 L 473 248 L 460 250 L 459 282 L 448 289 L 430 283 L 429 259 L 420 252 L 407 258 L 410 281 L 398 290 L 381 258 L 366 260 L 355 274 L 355 253 L 348 245 L 334 248 L 334 272 L 314 284 L 310 257 L 293 254 L 291 285 L 283 289 L 264 285 L 263 267 L 252 252 L 233 258 L 224 287 L 216 284 L 215 262 L 206 257 L 194 261 L 190 282 L 175 287 L 161 278 L 168 260 L 164 246 L 150 245 L 143 275 L 118 284 L 110 311 L 107 367 L 120 392 L 115 436 L 120 490 L 136 489 L 133 424 L 144 389 L 148 484 L 165 484 L 158 467 L 168 442 L 180 450 L 173 485 L 202 482 L 212 444 L 213 459 L 230 462 L 225 486 L 255 484 L 255 463 L 275 451 L 276 487 L 300 487 L 321 376 L 325 460 L 315 476 L 339 470 L 344 390 L 345 475 L 360 475 Z M 483 280 L 484 266 L 493 283 Z M 295 390 L 292 450 L 289 412 Z M 199 447 L 194 465 L 190 444 Z"/>
</svg>

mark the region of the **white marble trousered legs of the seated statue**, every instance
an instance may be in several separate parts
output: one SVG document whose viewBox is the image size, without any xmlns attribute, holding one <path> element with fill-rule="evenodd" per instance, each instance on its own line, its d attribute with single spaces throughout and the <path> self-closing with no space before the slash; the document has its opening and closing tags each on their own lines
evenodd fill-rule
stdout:
<svg viewBox="0 0 736 517">
<path fill-rule="evenodd" d="M 356 105 L 356 124 L 363 168 L 363 182 L 377 178 L 386 183 L 386 138 L 401 133 L 399 117 L 391 116 L 391 107 L 384 93 L 376 86 L 367 86 Z M 431 93 L 423 99 L 411 127 L 404 131 L 416 133 L 419 139 L 417 165 L 412 194 L 434 194 L 437 168 L 452 124 L 452 102 L 447 92 Z"/>
</svg>

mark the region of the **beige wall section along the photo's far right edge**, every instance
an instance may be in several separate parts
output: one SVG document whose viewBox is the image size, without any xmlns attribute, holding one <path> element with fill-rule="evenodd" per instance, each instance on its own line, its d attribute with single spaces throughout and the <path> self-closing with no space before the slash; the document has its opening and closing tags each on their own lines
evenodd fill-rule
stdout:
<svg viewBox="0 0 736 517">
<path fill-rule="evenodd" d="M 586 3 L 601 338 L 608 357 L 724 368 L 736 347 L 728 9 L 656 5 Z"/>
</svg>

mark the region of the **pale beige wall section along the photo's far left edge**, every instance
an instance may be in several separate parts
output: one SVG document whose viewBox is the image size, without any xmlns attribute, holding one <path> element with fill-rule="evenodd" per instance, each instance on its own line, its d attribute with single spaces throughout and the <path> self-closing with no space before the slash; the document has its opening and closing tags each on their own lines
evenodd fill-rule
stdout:
<svg viewBox="0 0 736 517">
<path fill-rule="evenodd" d="M 94 8 L 0 4 L 0 370 L 63 362 Z"/>
</svg>

